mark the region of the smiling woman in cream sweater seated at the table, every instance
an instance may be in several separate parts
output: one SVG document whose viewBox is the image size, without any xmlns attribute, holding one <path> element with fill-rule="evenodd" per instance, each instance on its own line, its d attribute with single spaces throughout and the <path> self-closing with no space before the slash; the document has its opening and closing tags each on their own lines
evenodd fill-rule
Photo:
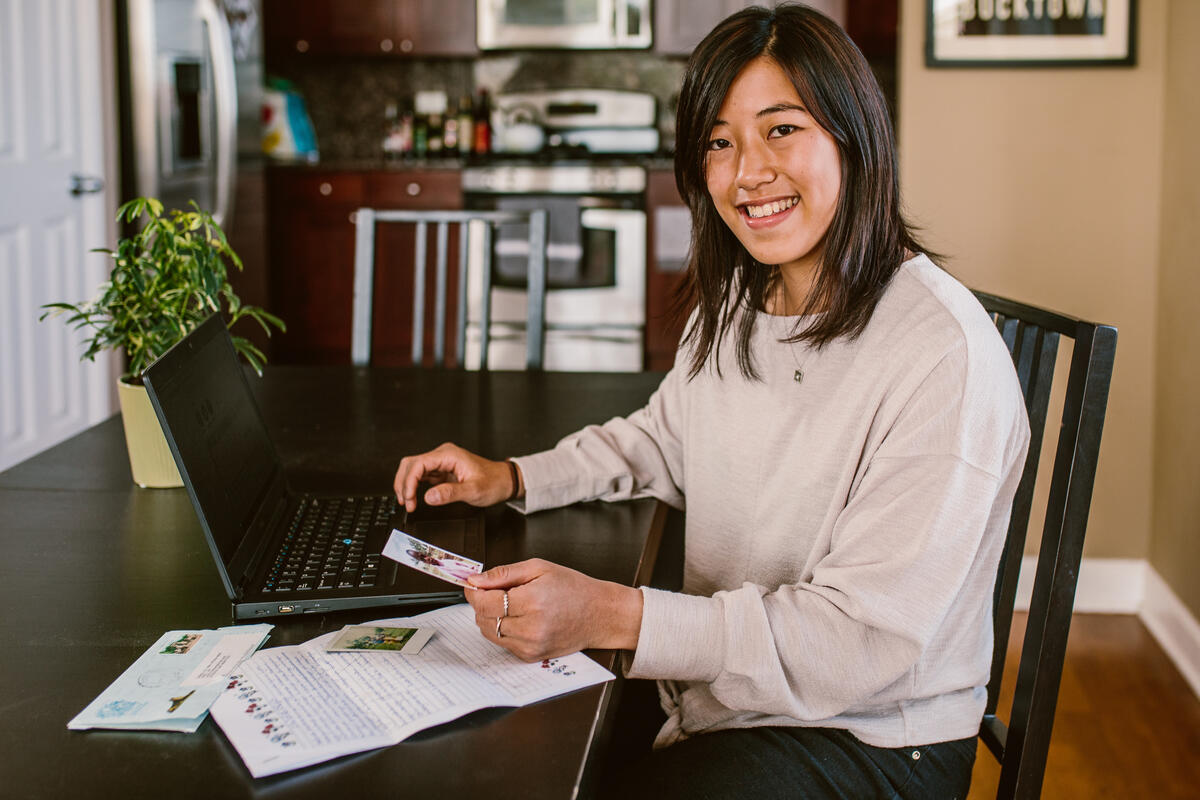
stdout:
<svg viewBox="0 0 1200 800">
<path fill-rule="evenodd" d="M 1009 354 L 920 254 L 882 94 L 821 14 L 751 8 L 701 42 L 676 180 L 695 311 L 647 407 L 508 463 L 404 458 L 397 497 L 686 506 L 683 593 L 540 560 L 467 593 L 523 658 L 620 648 L 660 681 L 648 796 L 961 798 L 1028 443 Z"/>
</svg>

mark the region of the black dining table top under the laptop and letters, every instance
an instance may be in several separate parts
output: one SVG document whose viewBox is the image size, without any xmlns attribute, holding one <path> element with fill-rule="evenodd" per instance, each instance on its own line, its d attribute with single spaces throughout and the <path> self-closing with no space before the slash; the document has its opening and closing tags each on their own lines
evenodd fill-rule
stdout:
<svg viewBox="0 0 1200 800">
<path fill-rule="evenodd" d="M 300 489 L 386 492 L 400 458 L 455 441 L 502 458 L 551 447 L 643 405 L 660 373 L 463 372 L 268 366 L 251 375 Z M 673 512 L 655 500 L 485 513 L 486 566 L 540 557 L 649 582 Z M 485 709 L 391 747 L 252 778 L 212 720 L 192 734 L 67 730 L 163 632 L 233 622 L 182 488 L 130 477 L 119 416 L 0 473 L 0 796 L 587 796 L 602 769 L 618 680 L 523 708 Z M 425 610 L 276 618 L 264 646 Z"/>
</svg>

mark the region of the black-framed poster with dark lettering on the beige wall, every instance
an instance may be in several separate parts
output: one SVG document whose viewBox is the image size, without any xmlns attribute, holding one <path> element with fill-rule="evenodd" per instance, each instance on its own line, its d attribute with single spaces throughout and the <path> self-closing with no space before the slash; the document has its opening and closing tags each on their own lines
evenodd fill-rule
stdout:
<svg viewBox="0 0 1200 800">
<path fill-rule="evenodd" d="M 926 0 L 930 67 L 1136 64 L 1138 0 Z"/>
</svg>

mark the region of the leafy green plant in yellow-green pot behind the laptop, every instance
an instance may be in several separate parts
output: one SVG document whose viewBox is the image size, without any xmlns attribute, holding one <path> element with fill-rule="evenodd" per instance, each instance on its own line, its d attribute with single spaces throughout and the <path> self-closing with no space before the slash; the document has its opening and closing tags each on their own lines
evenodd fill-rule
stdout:
<svg viewBox="0 0 1200 800">
<path fill-rule="evenodd" d="M 212 313 L 223 313 L 230 327 L 250 318 L 268 336 L 271 326 L 286 326 L 274 314 L 239 300 L 229 284 L 228 265 L 240 270 L 241 259 L 221 227 L 194 201 L 188 211 L 164 211 L 157 199 L 137 198 L 116 211 L 118 222 L 134 223 L 142 217 L 145 224 L 120 239 L 115 251 L 95 251 L 113 259 L 113 271 L 95 300 L 47 303 L 41 318 L 68 314 L 68 324 L 89 329 L 84 359 L 94 360 L 102 350 L 124 350 L 118 397 L 133 481 L 143 487 L 182 486 L 142 372 Z M 263 351 L 240 336 L 233 343 L 262 374 Z"/>
</svg>

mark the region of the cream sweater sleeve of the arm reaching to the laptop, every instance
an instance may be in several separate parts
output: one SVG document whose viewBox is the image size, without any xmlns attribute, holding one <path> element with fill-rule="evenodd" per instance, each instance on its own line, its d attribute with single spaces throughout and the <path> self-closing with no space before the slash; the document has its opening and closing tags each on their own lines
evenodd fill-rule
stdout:
<svg viewBox="0 0 1200 800">
<path fill-rule="evenodd" d="M 684 506 L 683 455 L 679 431 L 685 411 L 676 366 L 646 407 L 626 417 L 590 425 L 560 440 L 552 450 L 514 458 L 526 495 L 511 505 L 524 513 L 584 500 L 658 498 Z"/>
</svg>

